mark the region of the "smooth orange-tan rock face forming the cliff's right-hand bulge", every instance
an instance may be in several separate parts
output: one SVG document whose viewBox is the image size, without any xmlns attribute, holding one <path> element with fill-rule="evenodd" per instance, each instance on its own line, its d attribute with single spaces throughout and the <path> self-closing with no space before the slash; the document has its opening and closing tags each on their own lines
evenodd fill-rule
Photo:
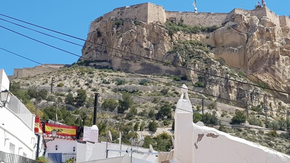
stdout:
<svg viewBox="0 0 290 163">
<path fill-rule="evenodd" d="M 214 47 L 211 52 L 215 58 L 222 57 L 227 65 L 244 69 L 251 80 L 290 92 L 290 29 L 281 27 L 277 19 L 273 13 L 260 19 L 236 13 L 201 41 Z M 286 94 L 273 93 L 289 99 Z"/>
</svg>

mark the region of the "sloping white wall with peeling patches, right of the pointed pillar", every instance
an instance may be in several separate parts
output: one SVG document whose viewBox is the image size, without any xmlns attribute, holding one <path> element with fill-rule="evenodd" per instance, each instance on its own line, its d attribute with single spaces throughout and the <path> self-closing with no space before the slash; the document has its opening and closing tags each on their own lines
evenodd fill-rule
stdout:
<svg viewBox="0 0 290 163">
<path fill-rule="evenodd" d="M 289 163 L 290 156 L 214 128 L 193 124 L 195 163 Z M 202 136 L 203 134 L 203 136 Z M 200 137 L 200 138 L 199 138 Z M 200 141 L 198 141 L 200 140 Z M 267 140 L 270 141 L 270 140 Z M 210 157 L 205 157 L 210 156 Z"/>
</svg>

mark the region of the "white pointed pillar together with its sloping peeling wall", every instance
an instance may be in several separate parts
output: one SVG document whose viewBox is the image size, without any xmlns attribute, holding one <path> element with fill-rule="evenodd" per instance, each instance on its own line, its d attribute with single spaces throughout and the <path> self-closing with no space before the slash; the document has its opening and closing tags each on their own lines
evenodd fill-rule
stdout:
<svg viewBox="0 0 290 163">
<path fill-rule="evenodd" d="M 184 92 L 182 92 L 184 93 Z M 192 122 L 190 100 L 183 95 L 175 111 L 174 156 L 170 162 L 289 163 L 290 156 L 260 144 L 231 136 L 202 122 Z M 186 111 L 184 111 L 186 110 Z M 192 138 L 189 138 L 192 135 Z M 159 162 L 165 160 L 158 160 Z"/>
</svg>

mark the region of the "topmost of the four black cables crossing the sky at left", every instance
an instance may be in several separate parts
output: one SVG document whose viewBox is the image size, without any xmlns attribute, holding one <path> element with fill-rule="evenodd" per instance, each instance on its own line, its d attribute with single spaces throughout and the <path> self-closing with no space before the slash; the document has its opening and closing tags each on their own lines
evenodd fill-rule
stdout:
<svg viewBox="0 0 290 163">
<path fill-rule="evenodd" d="M 89 42 L 89 43 L 93 43 L 95 45 L 99 45 L 101 47 L 106 47 L 106 48 L 109 48 L 109 49 L 113 49 L 113 50 L 117 50 L 117 51 L 120 51 L 120 52 L 124 52 L 124 53 L 127 53 L 127 54 L 131 54 L 131 55 L 135 55 L 135 56 L 139 56 L 139 57 L 142 57 L 142 58 L 146 58 L 148 60 L 153 60 L 153 61 L 157 61 L 157 62 L 161 62 L 161 63 L 164 63 L 164 64 L 168 64 L 168 65 L 173 65 L 171 63 L 166 63 L 166 62 L 163 62 L 163 61 L 159 61 L 157 59 L 153 59 L 153 58 L 149 58 L 149 57 L 146 57 L 146 56 L 141 56 L 141 55 L 138 55 L 138 54 L 134 54 L 134 53 L 131 53 L 131 52 L 126 52 L 124 50 L 119 50 L 119 49 L 116 49 L 116 48 L 113 48 L 113 47 L 109 47 L 109 46 L 106 46 L 106 45 L 102 45 L 102 44 L 98 44 L 98 43 L 94 43 L 94 42 L 91 42 L 91 41 L 87 41 L 87 40 L 84 40 L 84 39 L 81 39 L 81 38 L 78 38 L 78 37 L 75 37 L 75 36 L 71 36 L 71 35 L 68 35 L 68 34 L 64 34 L 64 33 L 61 33 L 61 32 L 57 32 L 55 30 L 51 30 L 51 29 L 48 29 L 48 28 L 44 28 L 44 27 L 41 27 L 39 25 L 35 25 L 35 24 L 32 24 L 32 23 L 28 23 L 26 21 L 22 21 L 22 20 L 19 20 L 19 19 L 15 19 L 13 17 L 9 17 L 9 16 L 6 16 L 6 15 L 3 15 L 3 14 L 0 14 L 4 17 L 8 17 L 10 19 L 14 19 L 14 20 L 17 20 L 17 21 L 20 21 L 20 22 L 23 22 L 23 23 L 27 23 L 27 24 L 30 24 L 30 25 L 33 25 L 33 26 L 36 26 L 36 27 L 39 27 L 39 28 L 42 28 L 42 29 L 45 29 L 45 30 L 49 30 L 49 31 L 52 31 L 52 32 L 55 32 L 55 33 L 58 33 L 58 34 L 62 34 L 62 35 L 65 35 L 65 36 L 69 36 L 69 37 L 72 37 L 72 38 L 75 38 L 75 39 L 78 39 L 78 40 L 81 40 L 81 41 L 85 41 L 85 42 Z M 180 67 L 180 68 L 184 68 L 184 69 L 188 69 L 188 70 L 191 70 L 191 71 L 195 71 L 195 72 L 199 72 L 199 73 L 202 73 L 202 74 L 207 74 L 207 75 L 211 75 L 211 76 L 215 76 L 215 77 L 219 77 L 219 78 L 224 78 L 226 80 L 231 80 L 231 81 L 235 81 L 235 82 L 238 82 L 238 83 L 242 83 L 242 84 L 247 84 L 247 85 L 251 85 L 251 86 L 255 86 L 255 87 L 259 87 L 259 88 L 263 88 L 263 89 L 268 89 L 268 90 L 272 90 L 272 91 L 277 91 L 277 92 L 280 92 L 280 93 L 285 93 L 285 94 L 290 94 L 290 93 L 287 93 L 287 92 L 284 92 L 284 91 L 279 91 L 279 90 L 276 90 L 276 89 L 271 89 L 271 88 L 267 88 L 267 87 L 261 87 L 259 85 L 254 85 L 254 84 L 251 84 L 251 83 L 246 83 L 246 82 L 242 82 L 242 81 L 238 81 L 238 80 L 234 80 L 234 79 L 230 79 L 230 78 L 226 78 L 226 77 L 223 77 L 223 76 L 218 76 L 218 75 L 214 75 L 214 74 L 209 74 L 207 72 L 202 72 L 202 71 L 198 71 L 198 70 L 195 70 L 195 69 L 190 69 L 190 68 L 186 68 L 186 67 L 183 67 L 183 66 L 179 66 L 179 65 L 173 65 L 175 67 Z"/>
</svg>

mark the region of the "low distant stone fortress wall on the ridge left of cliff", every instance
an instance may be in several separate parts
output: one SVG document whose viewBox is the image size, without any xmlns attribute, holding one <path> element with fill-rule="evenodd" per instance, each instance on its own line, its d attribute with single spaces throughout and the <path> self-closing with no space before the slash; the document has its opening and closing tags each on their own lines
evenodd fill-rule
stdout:
<svg viewBox="0 0 290 163">
<path fill-rule="evenodd" d="M 38 74 L 44 74 L 46 72 L 55 72 L 57 70 L 51 69 L 49 67 L 46 67 L 44 65 L 47 65 L 49 67 L 55 68 L 55 69 L 61 69 L 64 67 L 69 67 L 71 65 L 66 64 L 43 64 L 41 66 L 35 66 L 35 67 L 23 67 L 22 69 L 15 68 L 13 75 L 8 76 L 9 80 L 13 80 L 16 78 L 24 78 L 28 76 L 35 76 Z"/>
</svg>

